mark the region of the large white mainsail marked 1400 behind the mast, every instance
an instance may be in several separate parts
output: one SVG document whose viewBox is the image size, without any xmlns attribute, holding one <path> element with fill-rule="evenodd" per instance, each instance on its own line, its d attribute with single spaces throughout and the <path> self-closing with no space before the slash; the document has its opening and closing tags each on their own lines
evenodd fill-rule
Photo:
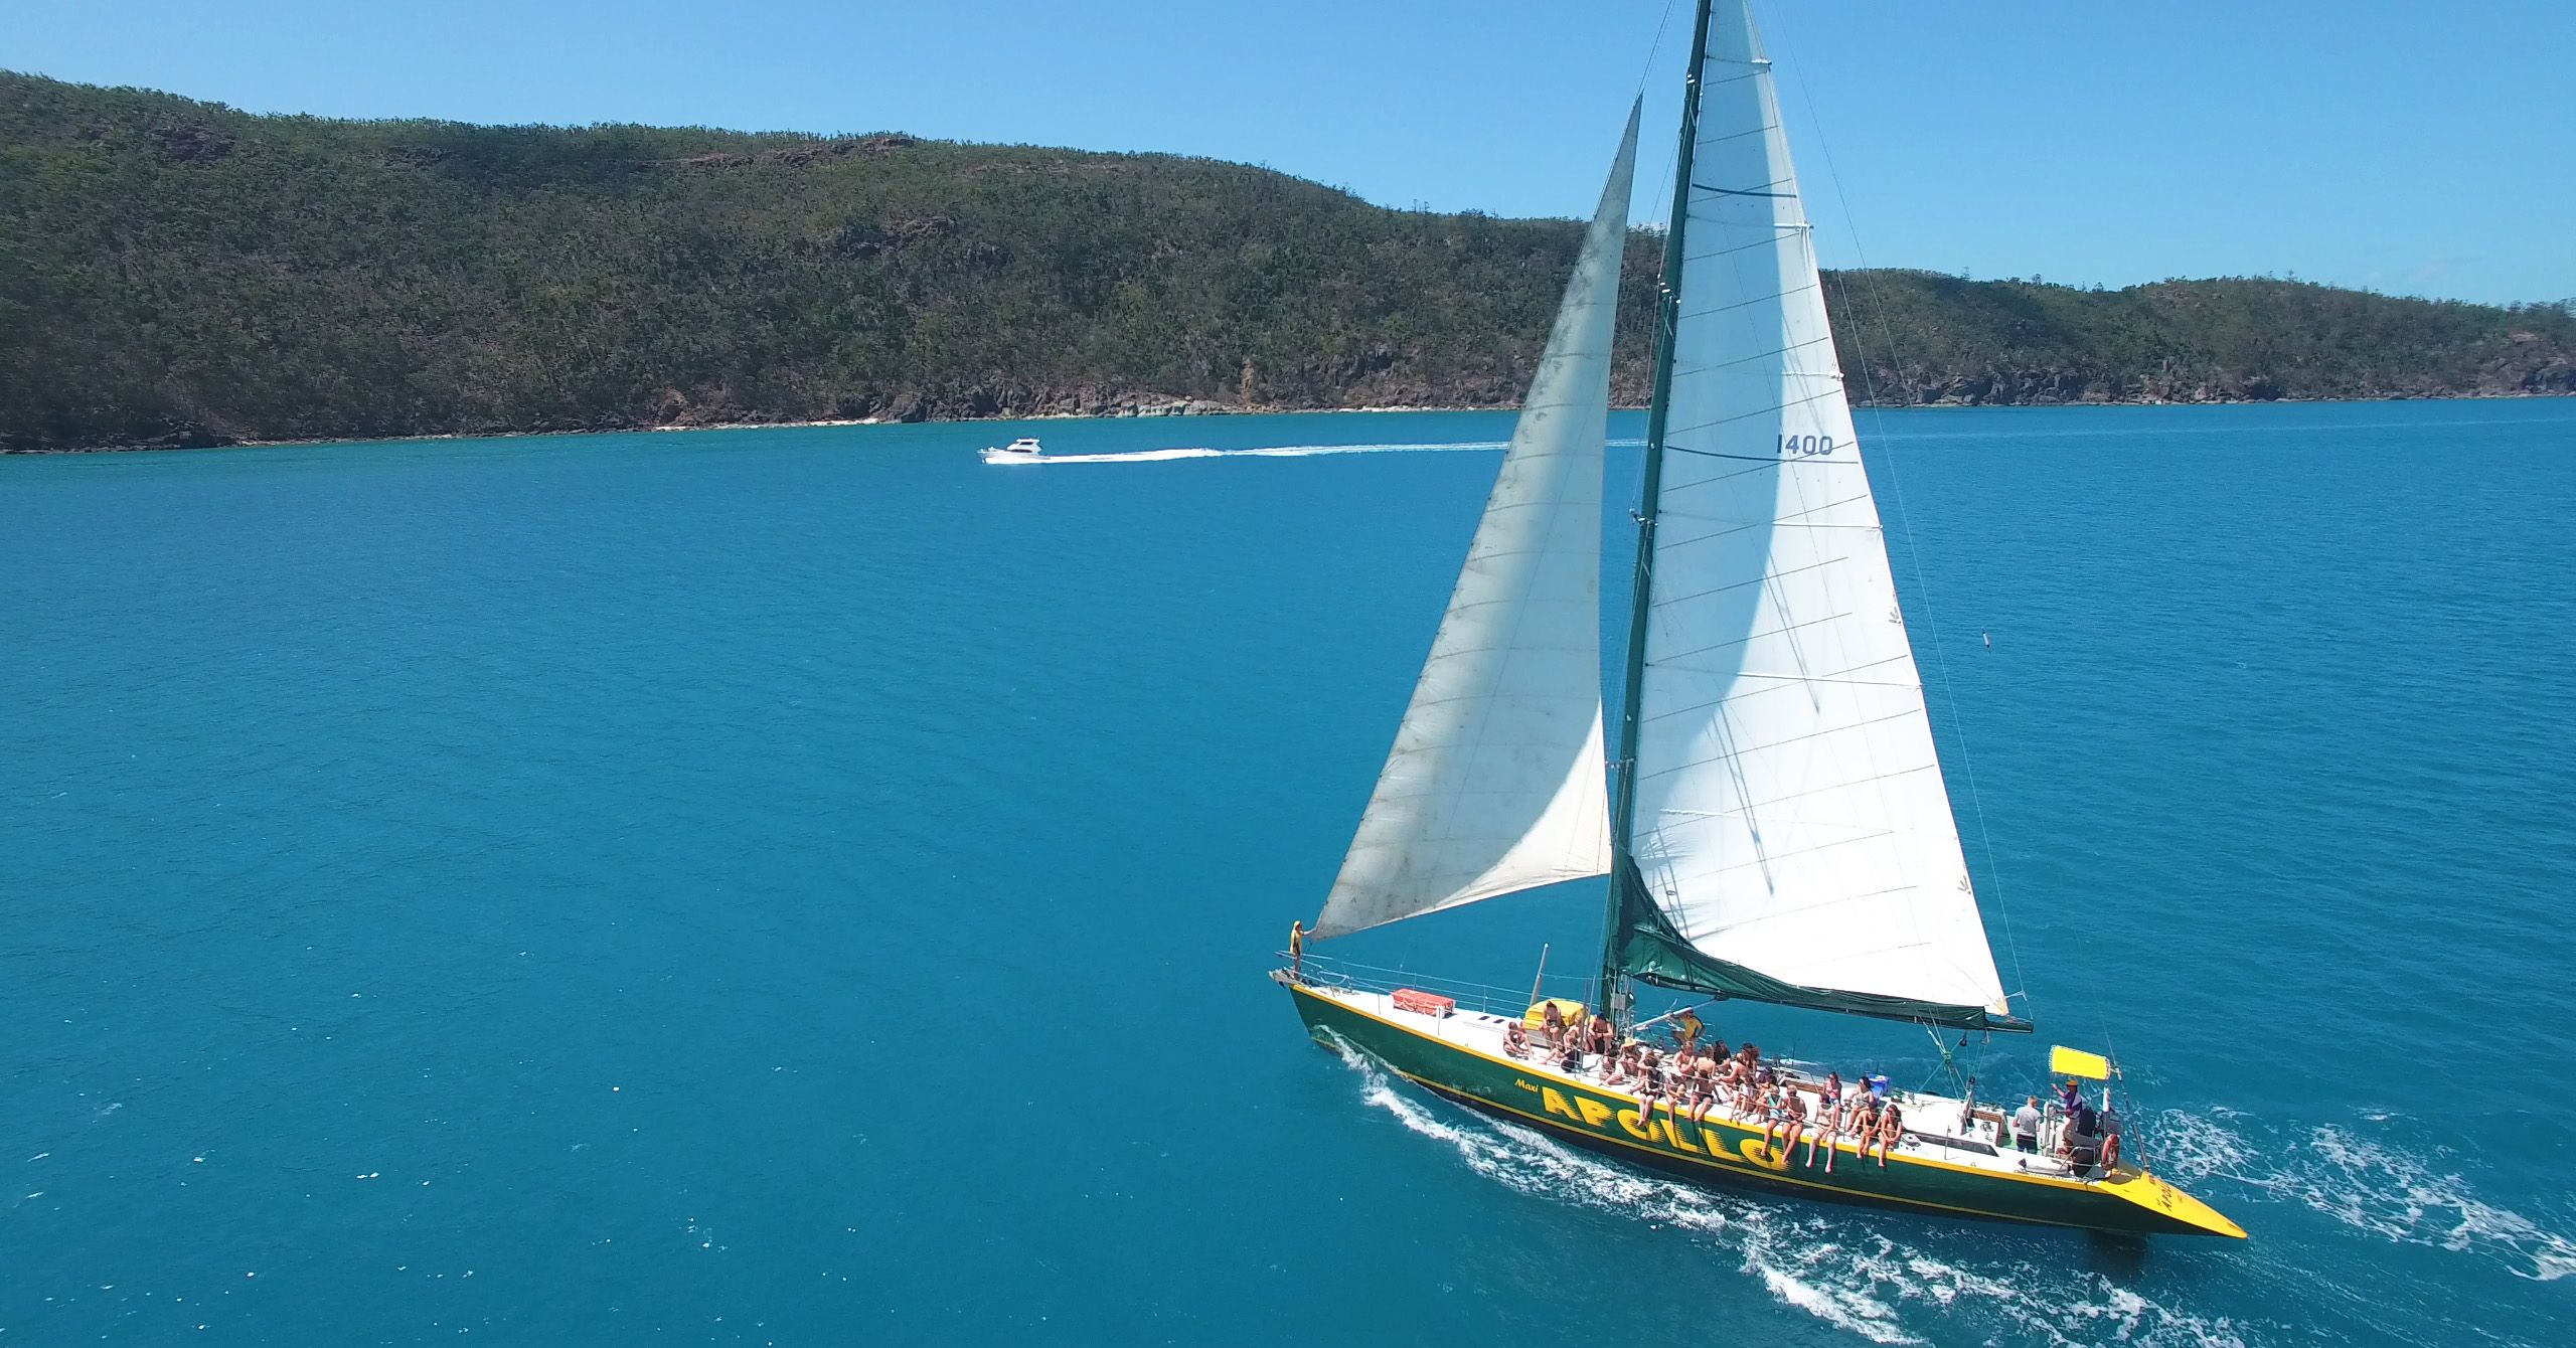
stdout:
<svg viewBox="0 0 2576 1348">
<path fill-rule="evenodd" d="M 1638 698 L 1638 871 L 1713 959 L 2002 1013 L 1741 0 L 1710 15 L 1692 157 Z"/>
</svg>

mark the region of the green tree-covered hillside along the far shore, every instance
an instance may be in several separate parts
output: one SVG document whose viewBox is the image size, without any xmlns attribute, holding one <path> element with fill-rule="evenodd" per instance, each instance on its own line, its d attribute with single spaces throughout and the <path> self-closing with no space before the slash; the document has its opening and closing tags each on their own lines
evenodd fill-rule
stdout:
<svg viewBox="0 0 2576 1348">
<path fill-rule="evenodd" d="M 1577 235 L 1213 160 L 247 116 L 0 72 L 0 448 L 1510 405 Z M 1638 232 L 1625 400 L 1656 263 Z M 1834 296 L 1855 392 L 1888 397 L 2576 389 L 2563 307 L 1929 273 Z"/>
</svg>

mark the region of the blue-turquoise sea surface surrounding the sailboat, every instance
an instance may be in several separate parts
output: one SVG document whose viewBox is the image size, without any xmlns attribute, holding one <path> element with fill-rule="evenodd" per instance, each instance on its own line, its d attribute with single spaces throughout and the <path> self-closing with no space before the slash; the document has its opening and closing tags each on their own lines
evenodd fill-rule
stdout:
<svg viewBox="0 0 2576 1348">
<path fill-rule="evenodd" d="M 2241 1245 L 1680 1188 L 1303 1036 L 1507 415 L 111 454 L 0 461 L 0 1345 L 2576 1338 L 2576 402 L 1860 428 L 1986 1093 L 2112 1046 Z"/>
</svg>

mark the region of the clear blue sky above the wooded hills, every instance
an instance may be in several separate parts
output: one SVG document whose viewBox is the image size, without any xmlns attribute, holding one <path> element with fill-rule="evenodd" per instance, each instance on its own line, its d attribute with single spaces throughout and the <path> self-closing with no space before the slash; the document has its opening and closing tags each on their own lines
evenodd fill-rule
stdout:
<svg viewBox="0 0 2576 1348">
<path fill-rule="evenodd" d="M 1589 211 L 1662 0 L 0 0 L 0 67 L 252 111 L 1167 149 Z M 1772 0 L 1826 260 L 2576 296 L 2576 0 Z M 1839 198 L 1837 198 L 1839 186 Z M 1844 224 L 1844 209 L 1850 222 Z"/>
</svg>

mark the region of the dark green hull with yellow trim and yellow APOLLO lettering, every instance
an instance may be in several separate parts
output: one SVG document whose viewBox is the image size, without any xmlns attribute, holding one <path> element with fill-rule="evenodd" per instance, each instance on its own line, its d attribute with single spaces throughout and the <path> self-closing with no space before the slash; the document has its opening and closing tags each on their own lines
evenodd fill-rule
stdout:
<svg viewBox="0 0 2576 1348">
<path fill-rule="evenodd" d="M 1850 1142 L 1839 1142 L 1842 1155 L 1826 1173 L 1821 1162 L 1803 1165 L 1803 1144 L 1795 1155 L 1775 1155 L 1765 1147 L 1757 1126 L 1718 1116 L 1692 1124 L 1664 1108 L 1646 1116 L 1638 1111 L 1638 1101 L 1620 1090 L 1427 1034 L 1404 1023 L 1417 1021 L 1409 1013 L 1355 1005 L 1368 1000 L 1365 995 L 1352 997 L 1285 982 L 1298 1016 L 1319 1041 L 1340 1039 L 1404 1080 L 1458 1103 L 1698 1183 L 2094 1232 L 2223 1235 L 2236 1240 L 2246 1235 L 2200 1199 L 2143 1170 L 2081 1180 L 1963 1165 L 1909 1150 L 1896 1150 L 1888 1165 L 1880 1165 L 1878 1157 L 1862 1160 Z M 1435 1021 L 1422 1023 L 1432 1026 Z"/>
</svg>

